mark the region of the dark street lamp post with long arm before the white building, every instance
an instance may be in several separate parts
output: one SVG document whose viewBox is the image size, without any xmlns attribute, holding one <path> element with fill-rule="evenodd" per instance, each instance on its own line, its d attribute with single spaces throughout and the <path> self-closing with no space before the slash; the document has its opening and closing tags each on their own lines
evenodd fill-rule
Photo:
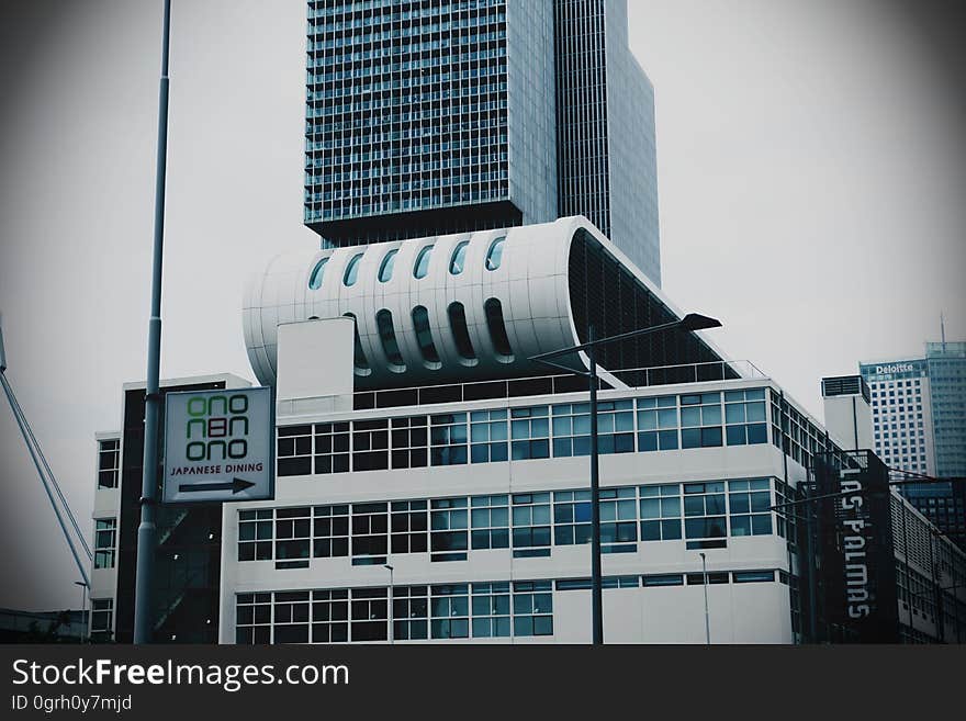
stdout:
<svg viewBox="0 0 966 721">
<path fill-rule="evenodd" d="M 604 643 L 604 616 L 603 616 L 603 594 L 600 590 L 600 470 L 599 470 L 599 448 L 597 444 L 597 386 L 599 380 L 597 376 L 597 346 L 617 342 L 620 340 L 629 340 L 639 336 L 647 336 L 652 333 L 662 330 L 682 329 L 682 330 L 704 330 L 706 328 L 718 328 L 721 322 L 717 318 L 709 318 L 697 313 L 688 313 L 679 320 L 663 323 L 650 328 L 639 328 L 630 330 L 617 336 L 608 338 L 597 338 L 597 330 L 594 324 L 587 326 L 587 342 L 569 348 L 552 350 L 549 353 L 540 353 L 532 356 L 529 360 L 535 363 L 542 363 L 551 368 L 561 369 L 568 373 L 585 375 L 589 383 L 591 392 L 591 613 L 593 617 L 593 643 L 595 645 Z M 577 370 L 568 365 L 554 363 L 552 359 L 561 356 L 569 356 L 584 351 L 587 356 L 587 371 Z"/>
</svg>

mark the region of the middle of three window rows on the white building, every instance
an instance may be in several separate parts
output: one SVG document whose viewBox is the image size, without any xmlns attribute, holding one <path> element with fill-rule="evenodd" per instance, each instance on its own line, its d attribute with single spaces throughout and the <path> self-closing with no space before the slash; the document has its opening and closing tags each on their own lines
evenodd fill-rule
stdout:
<svg viewBox="0 0 966 721">
<path fill-rule="evenodd" d="M 723 548 L 729 536 L 772 534 L 772 489 L 770 478 L 602 489 L 602 550 L 633 553 L 638 541 L 670 540 L 685 540 L 689 549 Z M 775 492 L 782 502 L 787 497 L 777 481 Z M 786 534 L 784 522 L 777 533 Z M 371 565 L 401 553 L 465 561 L 471 550 L 494 549 L 549 556 L 552 545 L 589 542 L 589 491 L 238 511 L 238 560 L 273 560 L 280 567 L 342 556 Z M 299 561 L 306 563 L 290 563 Z"/>
</svg>

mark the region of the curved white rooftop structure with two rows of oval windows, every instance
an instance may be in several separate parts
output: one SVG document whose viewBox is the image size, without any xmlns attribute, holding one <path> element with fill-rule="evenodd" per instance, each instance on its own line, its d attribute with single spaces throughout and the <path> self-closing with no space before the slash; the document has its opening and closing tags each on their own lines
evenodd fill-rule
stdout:
<svg viewBox="0 0 966 721">
<path fill-rule="evenodd" d="M 595 273 L 608 281 L 595 281 Z M 604 285 L 621 289 L 617 305 L 615 297 L 605 297 L 614 293 Z M 637 305 L 637 315 L 631 309 L 628 316 L 628 303 Z M 279 324 L 351 315 L 358 331 L 356 386 L 405 387 L 547 374 L 546 367 L 527 359 L 582 342 L 588 314 L 598 334 L 676 315 L 589 221 L 575 216 L 278 256 L 249 281 L 245 343 L 258 380 L 273 384 Z M 683 362 L 669 360 L 672 351 L 663 346 L 660 350 L 664 362 Z M 625 350 L 624 368 L 648 364 L 640 350 L 632 354 L 628 360 Z"/>
</svg>

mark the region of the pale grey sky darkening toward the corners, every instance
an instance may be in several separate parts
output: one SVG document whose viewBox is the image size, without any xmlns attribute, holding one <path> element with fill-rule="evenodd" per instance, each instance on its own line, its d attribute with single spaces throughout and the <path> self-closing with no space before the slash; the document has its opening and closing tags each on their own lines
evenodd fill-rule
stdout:
<svg viewBox="0 0 966 721">
<path fill-rule="evenodd" d="M 160 0 L 0 7 L 8 379 L 86 529 L 94 432 L 146 368 Z M 663 290 L 821 418 L 819 379 L 966 338 L 954 22 L 883 0 L 629 0 L 655 86 Z M 248 273 L 302 225 L 302 0 L 173 0 L 166 378 L 254 380 Z M 0 607 L 79 578 L 5 403 Z M 89 533 L 90 538 L 90 533 Z M 10 551 L 13 552 L 10 552 Z"/>
</svg>

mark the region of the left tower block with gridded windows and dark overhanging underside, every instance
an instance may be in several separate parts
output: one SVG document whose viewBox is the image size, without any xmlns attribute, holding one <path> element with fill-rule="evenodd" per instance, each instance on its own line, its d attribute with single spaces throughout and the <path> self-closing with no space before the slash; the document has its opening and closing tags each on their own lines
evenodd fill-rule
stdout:
<svg viewBox="0 0 966 721">
<path fill-rule="evenodd" d="M 310 1 L 306 225 L 342 246 L 552 219 L 552 38 L 543 1 Z"/>
</svg>

